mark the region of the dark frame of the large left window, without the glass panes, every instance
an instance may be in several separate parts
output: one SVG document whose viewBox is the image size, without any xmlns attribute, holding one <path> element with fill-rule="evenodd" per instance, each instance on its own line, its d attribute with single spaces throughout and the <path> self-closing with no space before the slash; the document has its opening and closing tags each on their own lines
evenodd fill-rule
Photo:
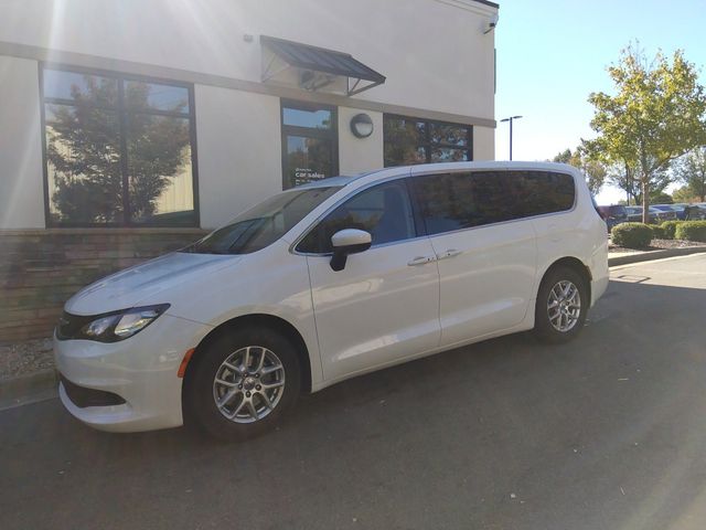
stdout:
<svg viewBox="0 0 706 530">
<path fill-rule="evenodd" d="M 40 127 L 42 135 L 42 174 L 43 174 L 43 188 L 44 188 L 44 225 L 47 229 L 193 229 L 201 226 L 201 209 L 200 209 L 200 200 L 199 200 L 199 157 L 197 157 L 197 145 L 196 145 L 196 110 L 195 110 L 195 97 L 194 97 L 194 85 L 192 83 L 185 83 L 181 81 L 173 81 L 163 77 L 151 77 L 139 74 L 127 74 L 116 71 L 103 70 L 103 68 L 88 68 L 85 66 L 76 66 L 66 63 L 56 63 L 51 61 L 40 61 L 38 63 L 39 68 L 39 83 L 40 83 Z M 72 222 L 53 222 L 51 215 L 51 197 L 49 190 L 49 159 L 46 157 L 47 146 L 46 146 L 46 105 L 66 105 L 66 106 L 76 106 L 71 100 L 65 100 L 62 98 L 54 98 L 44 96 L 44 71 L 45 70 L 56 70 L 60 72 L 67 72 L 74 74 L 85 74 L 85 75 L 97 75 L 101 77 L 110 77 L 116 80 L 118 84 L 118 103 L 116 107 L 106 107 L 101 105 L 96 105 L 97 108 L 105 108 L 109 110 L 114 110 L 118 117 L 118 127 L 120 135 L 120 173 L 121 173 L 121 184 L 122 189 L 127 190 L 129 187 L 129 173 L 128 173 L 128 153 L 127 153 L 127 139 L 126 139 L 126 130 L 127 123 L 126 118 L 129 114 L 148 114 L 154 116 L 168 116 L 168 117 L 178 117 L 178 118 L 188 118 L 189 119 L 189 140 L 191 148 L 191 173 L 192 173 L 192 195 L 193 195 L 193 222 L 189 224 L 173 224 L 173 223 L 136 223 L 130 219 L 130 208 L 129 208 L 129 193 L 124 193 L 122 199 L 122 221 L 121 222 L 113 222 L 113 223 L 72 223 Z M 147 109 L 147 110 L 130 110 L 128 109 L 122 100 L 124 91 L 125 91 L 125 82 L 136 81 L 139 83 L 156 83 L 162 85 L 176 86 L 181 88 L 185 88 L 189 94 L 189 113 L 170 113 L 168 110 L 158 110 L 158 109 Z"/>
</svg>

